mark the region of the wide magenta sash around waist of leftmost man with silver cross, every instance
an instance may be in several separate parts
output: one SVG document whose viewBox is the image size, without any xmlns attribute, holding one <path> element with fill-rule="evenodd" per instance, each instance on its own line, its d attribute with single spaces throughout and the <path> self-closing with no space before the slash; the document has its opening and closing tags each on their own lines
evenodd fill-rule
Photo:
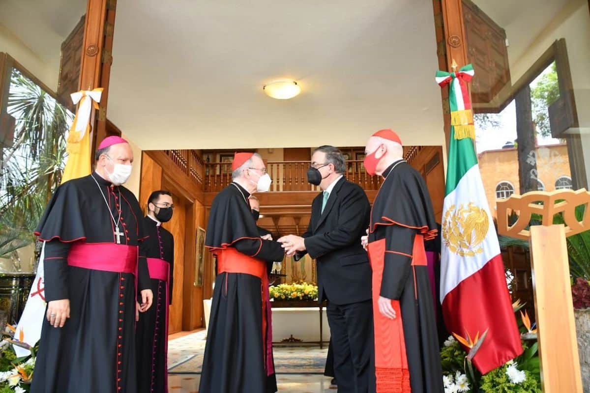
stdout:
<svg viewBox="0 0 590 393">
<path fill-rule="evenodd" d="M 115 243 L 74 243 L 68 254 L 68 265 L 135 275 L 137 246 Z"/>
</svg>

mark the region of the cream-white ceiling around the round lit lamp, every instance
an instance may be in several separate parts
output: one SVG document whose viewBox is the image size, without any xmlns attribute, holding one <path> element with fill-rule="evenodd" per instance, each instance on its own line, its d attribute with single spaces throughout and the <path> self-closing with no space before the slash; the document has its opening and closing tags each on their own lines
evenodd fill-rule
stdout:
<svg viewBox="0 0 590 393">
<path fill-rule="evenodd" d="M 142 149 L 442 144 L 435 41 L 429 1 L 119 1 L 108 117 Z"/>
</svg>

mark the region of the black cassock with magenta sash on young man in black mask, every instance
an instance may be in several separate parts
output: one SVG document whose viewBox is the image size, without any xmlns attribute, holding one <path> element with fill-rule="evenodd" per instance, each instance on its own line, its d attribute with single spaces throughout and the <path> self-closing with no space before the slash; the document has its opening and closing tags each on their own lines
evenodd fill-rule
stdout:
<svg viewBox="0 0 590 393">
<path fill-rule="evenodd" d="M 146 216 L 148 239 L 141 248 L 148 260 L 153 306 L 137 322 L 137 392 L 168 392 L 168 311 L 172 304 L 174 237 Z"/>
</svg>

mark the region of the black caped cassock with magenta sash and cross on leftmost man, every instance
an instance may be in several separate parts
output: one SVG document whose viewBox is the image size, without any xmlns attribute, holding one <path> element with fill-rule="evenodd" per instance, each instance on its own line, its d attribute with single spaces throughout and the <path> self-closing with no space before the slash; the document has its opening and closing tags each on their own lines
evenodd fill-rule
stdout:
<svg viewBox="0 0 590 393">
<path fill-rule="evenodd" d="M 149 289 L 142 220 L 135 196 L 96 172 L 55 191 L 36 234 L 47 242 L 45 300 L 70 299 L 70 319 L 63 328 L 44 319 L 32 393 L 137 392 L 135 298 Z"/>
</svg>

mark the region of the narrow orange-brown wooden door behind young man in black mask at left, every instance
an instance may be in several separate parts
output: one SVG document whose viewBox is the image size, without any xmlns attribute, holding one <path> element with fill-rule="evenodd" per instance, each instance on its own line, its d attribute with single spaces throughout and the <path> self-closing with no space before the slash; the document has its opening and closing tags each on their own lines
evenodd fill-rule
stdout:
<svg viewBox="0 0 590 393">
<path fill-rule="evenodd" d="M 174 214 L 172 220 L 164 224 L 174 236 L 174 287 L 172 289 L 172 305 L 169 315 L 169 334 L 182 331 L 182 303 L 185 261 L 185 229 L 186 204 L 182 198 L 172 194 Z"/>
</svg>

